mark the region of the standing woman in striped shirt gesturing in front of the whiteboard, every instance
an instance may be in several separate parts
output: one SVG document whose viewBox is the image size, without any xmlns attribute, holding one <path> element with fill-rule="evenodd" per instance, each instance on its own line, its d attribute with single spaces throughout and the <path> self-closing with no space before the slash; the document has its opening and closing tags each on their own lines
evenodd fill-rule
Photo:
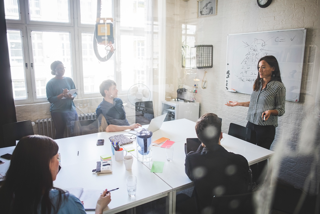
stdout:
<svg viewBox="0 0 320 214">
<path fill-rule="evenodd" d="M 276 57 L 264 56 L 258 63 L 258 77 L 253 84 L 253 92 L 249 102 L 229 101 L 227 106 L 249 107 L 246 125 L 256 132 L 256 143 L 270 149 L 275 139 L 278 116 L 284 115 L 285 87 L 281 81 L 280 68 Z M 267 160 L 252 165 L 253 180 L 263 183 L 266 173 L 261 175 Z"/>
</svg>

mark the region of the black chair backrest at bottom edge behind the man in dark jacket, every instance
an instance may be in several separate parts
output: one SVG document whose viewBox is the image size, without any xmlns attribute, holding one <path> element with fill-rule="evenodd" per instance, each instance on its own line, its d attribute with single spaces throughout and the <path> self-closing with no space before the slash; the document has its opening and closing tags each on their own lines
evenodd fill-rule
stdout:
<svg viewBox="0 0 320 214">
<path fill-rule="evenodd" d="M 253 214 L 253 193 L 214 196 L 209 213 L 214 214 Z"/>
</svg>

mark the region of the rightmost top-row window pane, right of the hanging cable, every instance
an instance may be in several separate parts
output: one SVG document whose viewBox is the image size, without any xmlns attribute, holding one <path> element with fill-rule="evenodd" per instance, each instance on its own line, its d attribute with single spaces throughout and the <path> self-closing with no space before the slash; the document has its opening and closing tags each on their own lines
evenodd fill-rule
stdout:
<svg viewBox="0 0 320 214">
<path fill-rule="evenodd" d="M 122 27 L 145 27 L 144 0 L 121 0 L 120 24 Z"/>
</svg>

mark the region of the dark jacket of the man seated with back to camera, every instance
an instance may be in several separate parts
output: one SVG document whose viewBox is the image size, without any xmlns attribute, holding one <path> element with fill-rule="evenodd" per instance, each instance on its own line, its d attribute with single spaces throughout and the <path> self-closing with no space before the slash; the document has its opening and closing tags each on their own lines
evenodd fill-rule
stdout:
<svg viewBox="0 0 320 214">
<path fill-rule="evenodd" d="M 200 145 L 196 152 L 189 152 L 185 170 L 194 182 L 198 209 L 210 206 L 214 195 L 247 193 L 250 180 L 247 159 L 219 144 L 211 149 Z"/>
</svg>

